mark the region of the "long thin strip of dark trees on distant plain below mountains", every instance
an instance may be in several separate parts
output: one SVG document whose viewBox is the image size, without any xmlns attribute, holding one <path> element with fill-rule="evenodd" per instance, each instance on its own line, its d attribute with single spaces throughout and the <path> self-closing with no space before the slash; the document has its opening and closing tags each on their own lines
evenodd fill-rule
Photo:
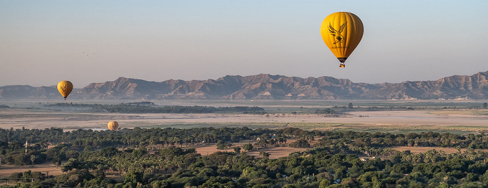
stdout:
<svg viewBox="0 0 488 188">
<path fill-rule="evenodd" d="M 261 107 L 204 107 L 204 106 L 154 106 L 152 102 L 132 102 L 122 104 L 73 104 L 56 103 L 45 107 L 90 108 L 95 112 L 106 113 L 215 113 L 264 111 Z"/>
</svg>

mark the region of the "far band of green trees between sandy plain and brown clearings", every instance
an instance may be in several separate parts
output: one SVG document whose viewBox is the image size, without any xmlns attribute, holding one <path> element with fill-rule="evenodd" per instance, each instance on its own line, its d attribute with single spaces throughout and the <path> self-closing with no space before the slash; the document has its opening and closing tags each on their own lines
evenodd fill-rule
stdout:
<svg viewBox="0 0 488 188">
<path fill-rule="evenodd" d="M 273 136 L 275 135 L 275 136 Z M 458 135 L 437 132 L 422 132 L 409 134 L 390 134 L 390 133 L 368 133 L 368 132 L 337 132 L 318 130 L 306 131 L 298 128 L 287 127 L 280 130 L 256 129 L 247 127 L 201 127 L 192 129 L 175 128 L 153 128 L 153 129 L 122 129 L 118 132 L 113 131 L 93 131 L 93 130 L 74 130 L 64 132 L 60 128 L 50 128 L 44 130 L 9 130 L 0 129 L 0 146 L 6 143 L 18 143 L 20 147 L 25 141 L 31 144 L 54 144 L 73 143 L 76 146 L 149 146 L 155 144 L 171 143 L 195 144 L 195 143 L 217 143 L 241 142 L 246 140 L 262 139 L 270 141 L 279 137 L 293 137 L 310 141 L 321 137 L 316 146 L 326 146 L 330 143 L 344 143 L 349 146 L 371 146 L 376 148 L 392 146 L 424 146 L 424 147 L 450 147 L 450 148 L 472 148 L 488 149 L 488 139 L 484 132 L 480 134 Z M 273 144 L 273 143 L 271 143 Z M 13 145 L 15 146 L 15 145 Z M 0 154 L 5 151 L 1 150 Z"/>
</svg>

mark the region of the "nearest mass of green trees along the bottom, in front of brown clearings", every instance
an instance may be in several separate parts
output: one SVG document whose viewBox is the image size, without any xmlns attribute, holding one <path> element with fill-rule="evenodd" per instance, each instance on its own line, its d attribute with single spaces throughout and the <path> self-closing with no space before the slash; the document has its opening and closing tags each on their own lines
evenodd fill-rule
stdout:
<svg viewBox="0 0 488 188">
<path fill-rule="evenodd" d="M 236 152 L 199 155 L 195 149 L 164 148 L 154 154 L 137 150 L 86 149 L 61 166 L 66 173 L 13 173 L 9 178 L 32 178 L 31 187 L 62 184 L 77 187 L 485 187 L 485 152 L 445 155 L 426 152 L 417 162 L 410 152 L 388 159 L 362 161 L 331 145 L 288 157 L 268 159 Z M 434 159 L 434 160 L 430 160 Z M 123 173 L 122 182 L 106 175 Z M 27 186 L 26 186 L 27 187 Z"/>
</svg>

